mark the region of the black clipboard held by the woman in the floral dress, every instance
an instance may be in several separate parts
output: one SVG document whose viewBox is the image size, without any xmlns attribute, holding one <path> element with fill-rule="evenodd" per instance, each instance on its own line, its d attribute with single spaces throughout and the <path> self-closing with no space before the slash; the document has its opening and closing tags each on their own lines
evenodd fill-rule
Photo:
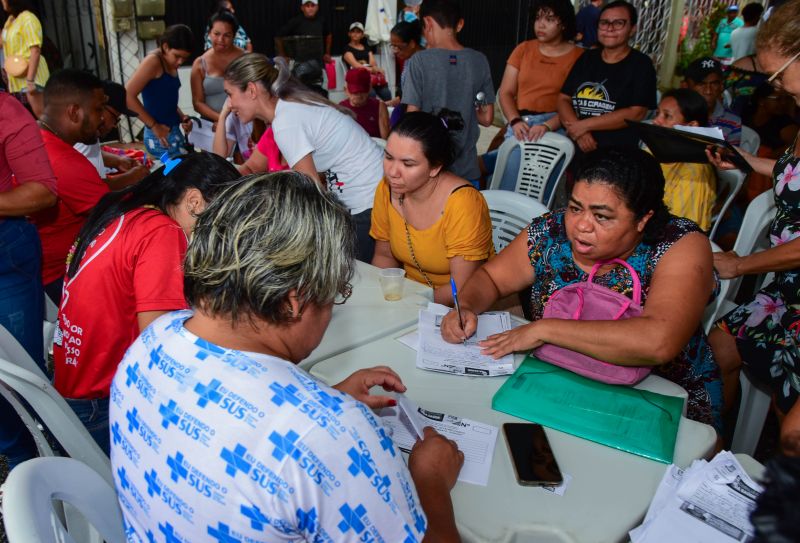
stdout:
<svg viewBox="0 0 800 543">
<path fill-rule="evenodd" d="M 723 158 L 732 162 L 742 172 L 753 171 L 736 147 L 723 139 L 639 121 L 626 119 L 625 122 L 638 132 L 641 140 L 659 162 L 708 164 L 706 148 L 711 145 L 719 148 Z"/>
</svg>

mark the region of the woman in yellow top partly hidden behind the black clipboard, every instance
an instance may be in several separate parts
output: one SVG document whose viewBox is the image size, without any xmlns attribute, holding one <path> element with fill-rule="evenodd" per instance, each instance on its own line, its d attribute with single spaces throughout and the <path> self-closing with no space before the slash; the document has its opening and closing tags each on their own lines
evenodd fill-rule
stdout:
<svg viewBox="0 0 800 543">
<path fill-rule="evenodd" d="M 666 92 L 658 104 L 653 124 L 674 128 L 675 125 L 706 126 L 708 106 L 705 99 L 689 89 Z M 708 232 L 717 199 L 717 174 L 710 164 L 671 162 L 661 164 L 664 172 L 664 203 L 669 212 L 697 223 Z"/>
</svg>

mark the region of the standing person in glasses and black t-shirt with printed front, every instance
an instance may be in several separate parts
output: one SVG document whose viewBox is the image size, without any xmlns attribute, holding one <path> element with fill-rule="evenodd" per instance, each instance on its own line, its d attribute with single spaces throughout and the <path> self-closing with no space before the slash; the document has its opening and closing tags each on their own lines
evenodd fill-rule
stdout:
<svg viewBox="0 0 800 543">
<path fill-rule="evenodd" d="M 637 14 L 624 0 L 600 12 L 601 49 L 586 51 L 561 88 L 558 115 L 567 135 L 587 153 L 601 147 L 638 145 L 627 119 L 640 121 L 656 107 L 656 71 L 647 55 L 628 44 Z"/>
</svg>

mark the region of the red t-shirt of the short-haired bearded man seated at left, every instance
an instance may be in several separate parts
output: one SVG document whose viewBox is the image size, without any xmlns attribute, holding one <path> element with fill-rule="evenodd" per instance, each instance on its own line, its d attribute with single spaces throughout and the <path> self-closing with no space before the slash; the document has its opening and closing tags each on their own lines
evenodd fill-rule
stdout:
<svg viewBox="0 0 800 543">
<path fill-rule="evenodd" d="M 85 156 L 48 130 L 41 130 L 58 180 L 58 203 L 31 218 L 42 239 L 42 283 L 64 276 L 67 253 L 89 212 L 108 191 Z"/>
</svg>

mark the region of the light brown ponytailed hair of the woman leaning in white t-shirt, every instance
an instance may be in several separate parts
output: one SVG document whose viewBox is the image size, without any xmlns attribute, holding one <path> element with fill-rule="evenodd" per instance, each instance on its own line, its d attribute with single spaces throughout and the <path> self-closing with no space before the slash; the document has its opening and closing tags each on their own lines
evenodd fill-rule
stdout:
<svg viewBox="0 0 800 543">
<path fill-rule="evenodd" d="M 289 66 L 281 57 L 277 57 L 273 63 L 261 53 L 245 53 L 228 64 L 225 80 L 241 91 L 247 88 L 248 83 L 260 83 L 271 96 L 277 96 L 281 100 L 309 106 L 332 107 L 339 113 L 354 117 L 351 110 L 320 96 L 292 76 Z"/>
</svg>

